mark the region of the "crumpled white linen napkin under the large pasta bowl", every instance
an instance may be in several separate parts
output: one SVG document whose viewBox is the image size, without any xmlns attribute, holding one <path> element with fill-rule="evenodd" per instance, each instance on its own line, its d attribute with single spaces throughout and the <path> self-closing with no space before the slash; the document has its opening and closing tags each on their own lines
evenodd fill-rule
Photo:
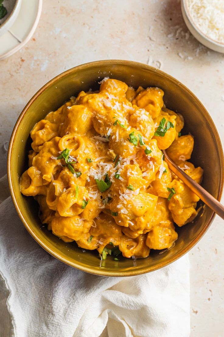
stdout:
<svg viewBox="0 0 224 337">
<path fill-rule="evenodd" d="M 0 200 L 7 192 L 0 179 Z M 188 255 L 126 278 L 69 267 L 26 231 L 8 197 L 0 205 L 1 337 L 187 337 Z"/>
</svg>

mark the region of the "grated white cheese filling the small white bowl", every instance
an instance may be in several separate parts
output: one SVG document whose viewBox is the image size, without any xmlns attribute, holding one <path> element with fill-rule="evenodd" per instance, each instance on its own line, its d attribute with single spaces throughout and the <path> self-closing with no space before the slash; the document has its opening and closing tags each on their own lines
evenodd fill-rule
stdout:
<svg viewBox="0 0 224 337">
<path fill-rule="evenodd" d="M 224 43 L 224 1 L 187 0 L 190 17 L 209 38 Z"/>
</svg>

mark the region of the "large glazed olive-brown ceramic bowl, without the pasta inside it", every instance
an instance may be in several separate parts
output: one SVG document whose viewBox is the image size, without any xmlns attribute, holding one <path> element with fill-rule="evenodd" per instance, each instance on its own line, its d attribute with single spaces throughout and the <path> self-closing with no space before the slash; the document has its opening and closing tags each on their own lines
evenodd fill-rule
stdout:
<svg viewBox="0 0 224 337">
<path fill-rule="evenodd" d="M 132 276 L 162 268 L 189 251 L 205 234 L 214 219 L 214 212 L 205 207 L 193 223 L 177 228 L 175 246 L 159 254 L 151 250 L 149 257 L 137 259 L 108 258 L 100 267 L 100 259 L 93 251 L 83 252 L 76 243 L 64 243 L 42 226 L 38 217 L 38 204 L 33 197 L 20 193 L 19 177 L 28 168 L 31 148 L 30 131 L 35 123 L 50 111 L 56 110 L 81 90 L 98 89 L 105 76 L 126 82 L 137 88 L 160 87 L 169 109 L 181 113 L 185 120 L 184 132 L 194 136 L 192 162 L 204 168 L 202 185 L 220 200 L 223 188 L 223 150 L 216 127 L 200 101 L 184 85 L 170 75 L 145 64 L 110 60 L 83 64 L 63 72 L 48 82 L 29 101 L 19 116 L 12 132 L 8 150 L 8 180 L 16 211 L 32 237 L 50 254 L 64 263 L 104 276 Z M 32 239 L 31 239 L 32 240 Z"/>
</svg>

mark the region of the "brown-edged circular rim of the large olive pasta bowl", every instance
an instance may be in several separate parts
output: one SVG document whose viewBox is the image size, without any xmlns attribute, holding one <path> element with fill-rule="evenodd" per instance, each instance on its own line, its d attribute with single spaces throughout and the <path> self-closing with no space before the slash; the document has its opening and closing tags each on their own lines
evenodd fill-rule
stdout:
<svg viewBox="0 0 224 337">
<path fill-rule="evenodd" d="M 121 276 L 135 276 L 135 275 L 141 275 L 141 274 L 145 274 L 154 270 L 158 270 L 160 268 L 163 268 L 169 264 L 171 264 L 172 262 L 176 261 L 178 258 L 182 257 L 184 254 L 186 254 L 200 239 L 201 237 L 203 237 L 203 235 L 206 233 L 206 231 L 208 230 L 208 228 L 210 227 L 212 221 L 214 220 L 215 217 L 215 213 L 213 212 L 210 219 L 208 220 L 206 226 L 203 228 L 203 230 L 198 234 L 198 236 L 187 246 L 185 247 L 181 252 L 177 253 L 176 255 L 174 255 L 173 257 L 169 258 L 167 261 L 165 262 L 161 262 L 158 265 L 155 266 L 151 266 L 151 267 L 146 267 L 146 268 L 140 268 L 138 270 L 132 269 L 132 270 L 127 270 L 127 271 L 108 271 L 108 270 L 104 270 L 104 269 L 99 269 L 99 270 L 92 270 L 91 267 L 86 267 L 86 266 L 81 266 L 76 262 L 72 262 L 72 261 L 68 261 L 68 259 L 64 258 L 63 256 L 60 256 L 60 254 L 54 252 L 46 243 L 44 243 L 39 237 L 38 235 L 36 235 L 32 228 L 30 227 L 29 223 L 25 220 L 24 215 L 22 214 L 20 207 L 19 207 L 19 203 L 16 200 L 16 196 L 15 196 L 15 192 L 14 192 L 14 188 L 13 188 L 13 184 L 12 184 L 12 166 L 11 165 L 11 160 L 12 160 L 12 148 L 13 148 L 13 143 L 14 143 L 14 139 L 15 139 L 15 135 L 17 133 L 17 130 L 19 128 L 19 125 L 21 123 L 21 121 L 23 120 L 25 114 L 27 113 L 27 110 L 30 108 L 30 106 L 32 105 L 32 103 L 42 94 L 42 92 L 48 88 L 49 86 L 51 86 L 52 84 L 54 84 L 58 79 L 61 79 L 64 76 L 69 75 L 70 73 L 73 73 L 76 70 L 81 70 L 81 69 L 85 69 L 88 68 L 89 66 L 101 66 L 101 65 L 108 65 L 108 63 L 111 66 L 114 65 L 132 65 L 135 67 L 144 67 L 145 69 L 150 69 L 151 71 L 156 71 L 159 72 L 160 75 L 165 76 L 168 80 L 170 80 L 171 82 L 174 82 L 176 85 L 180 86 L 182 89 L 184 89 L 188 94 L 191 95 L 191 97 L 197 101 L 197 103 L 201 106 L 201 108 L 203 109 L 206 118 L 208 119 L 208 121 L 210 122 L 210 127 L 214 133 L 216 142 L 218 144 L 218 148 L 219 148 L 219 153 L 221 155 L 221 177 L 222 177 L 222 181 L 219 187 L 219 191 L 218 191 L 218 198 L 217 200 L 220 201 L 221 199 L 221 195 L 222 195 L 222 191 L 223 191 L 223 185 L 224 185 L 224 175 L 223 175 L 223 166 L 224 166 L 224 154 L 223 154 L 223 149 L 222 149 L 222 143 L 218 134 L 218 131 L 216 129 L 216 126 L 211 118 L 211 116 L 209 115 L 208 111 L 206 110 L 206 108 L 204 107 L 204 105 L 200 102 L 200 100 L 186 87 L 184 86 L 181 82 L 179 82 L 178 80 L 176 80 L 174 77 L 172 77 L 171 75 L 163 72 L 160 69 L 151 67 L 149 65 L 140 63 L 140 62 L 134 62 L 134 61 L 126 61 L 126 60 L 101 60 L 101 61 L 94 61 L 94 62 L 88 62 L 85 64 L 81 64 L 78 65 L 76 67 L 73 67 L 71 69 L 68 69 L 64 72 L 62 72 L 61 74 L 55 76 L 52 80 L 48 81 L 41 89 L 39 89 L 36 94 L 29 100 L 29 102 L 26 104 L 25 108 L 23 109 L 23 111 L 21 112 L 21 114 L 19 115 L 16 124 L 13 128 L 12 131 L 12 135 L 10 138 L 10 142 L 9 142 L 9 148 L 8 148 L 8 158 L 7 158 L 7 171 L 8 171 L 8 184 L 9 184 L 9 189 L 10 189 L 10 194 L 11 194 L 11 198 L 12 198 L 12 202 L 14 204 L 14 207 L 16 209 L 16 212 L 19 215 L 20 220 L 23 222 L 25 228 L 27 229 L 27 231 L 31 234 L 31 236 L 39 243 L 39 245 L 44 248 L 49 254 L 51 254 L 52 256 L 56 257 L 57 259 L 59 259 L 60 261 L 64 262 L 65 264 L 77 268 L 81 271 L 87 272 L 87 273 L 91 273 L 91 274 L 95 274 L 95 275 L 101 275 L 101 276 L 116 276 L 116 277 L 121 277 Z"/>
</svg>

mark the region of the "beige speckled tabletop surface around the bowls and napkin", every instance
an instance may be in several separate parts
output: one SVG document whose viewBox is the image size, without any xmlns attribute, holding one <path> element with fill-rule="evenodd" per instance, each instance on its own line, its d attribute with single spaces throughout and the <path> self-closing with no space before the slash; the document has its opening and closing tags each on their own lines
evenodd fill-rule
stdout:
<svg viewBox="0 0 224 337">
<path fill-rule="evenodd" d="M 64 70 L 102 59 L 147 63 L 177 78 L 206 106 L 224 142 L 224 55 L 189 33 L 179 0 L 45 0 L 33 38 L 0 61 L 0 176 L 7 141 L 28 100 Z M 189 253 L 191 336 L 224 336 L 223 239 L 217 216 Z"/>
</svg>

